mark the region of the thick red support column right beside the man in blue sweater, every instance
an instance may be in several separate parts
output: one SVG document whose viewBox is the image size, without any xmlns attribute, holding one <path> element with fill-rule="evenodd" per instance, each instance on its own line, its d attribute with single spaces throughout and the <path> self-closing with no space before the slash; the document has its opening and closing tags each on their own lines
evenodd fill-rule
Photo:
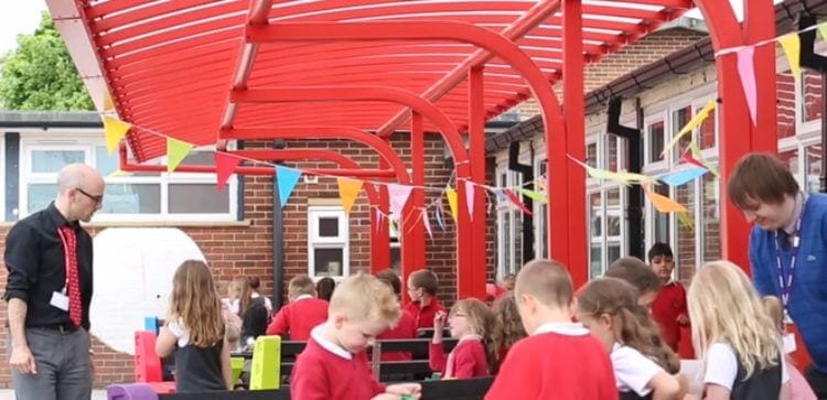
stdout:
<svg viewBox="0 0 827 400">
<path fill-rule="evenodd" d="M 701 10 L 717 51 L 752 44 L 775 36 L 775 10 L 772 0 L 752 0 L 745 4 L 744 28 L 735 20 L 728 0 L 695 0 Z M 753 151 L 777 153 L 775 47 L 755 48 L 758 89 L 758 127 L 750 119 L 747 99 L 738 74 L 738 56 L 732 53 L 717 57 L 718 96 L 720 104 L 719 164 L 721 202 L 721 257 L 749 272 L 750 225 L 743 214 L 729 202 L 727 180 L 744 154 Z"/>
</svg>

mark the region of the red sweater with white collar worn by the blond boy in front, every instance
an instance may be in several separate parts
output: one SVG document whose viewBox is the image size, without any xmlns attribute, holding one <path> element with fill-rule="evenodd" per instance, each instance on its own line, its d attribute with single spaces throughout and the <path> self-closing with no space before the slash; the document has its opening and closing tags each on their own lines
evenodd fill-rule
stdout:
<svg viewBox="0 0 827 400">
<path fill-rule="evenodd" d="M 307 347 L 296 359 L 290 397 L 302 400 L 366 400 L 385 392 L 374 379 L 365 352 L 352 354 L 313 328 Z"/>
</svg>

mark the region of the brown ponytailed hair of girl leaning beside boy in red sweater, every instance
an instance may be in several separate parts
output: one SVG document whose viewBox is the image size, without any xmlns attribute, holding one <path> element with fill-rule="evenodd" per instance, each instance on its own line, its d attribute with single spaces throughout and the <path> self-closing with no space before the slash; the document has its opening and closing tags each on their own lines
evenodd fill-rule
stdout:
<svg viewBox="0 0 827 400">
<path fill-rule="evenodd" d="M 578 309 L 593 317 L 612 318 L 614 339 L 651 357 L 669 374 L 680 370 L 680 360 L 660 338 L 648 310 L 637 304 L 634 288 L 616 278 L 598 278 L 578 292 Z"/>
</svg>

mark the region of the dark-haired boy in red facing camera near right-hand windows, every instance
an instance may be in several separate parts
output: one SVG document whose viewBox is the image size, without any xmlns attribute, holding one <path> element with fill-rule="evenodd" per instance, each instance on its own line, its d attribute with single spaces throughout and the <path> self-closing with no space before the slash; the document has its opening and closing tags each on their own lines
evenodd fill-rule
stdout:
<svg viewBox="0 0 827 400">
<path fill-rule="evenodd" d="M 680 282 L 672 279 L 675 261 L 672 248 L 657 242 L 648 252 L 652 270 L 660 280 L 660 292 L 652 303 L 652 317 L 660 325 L 660 336 L 673 350 L 678 350 L 680 327 L 689 324 L 689 312 L 686 309 L 686 289 Z"/>
</svg>

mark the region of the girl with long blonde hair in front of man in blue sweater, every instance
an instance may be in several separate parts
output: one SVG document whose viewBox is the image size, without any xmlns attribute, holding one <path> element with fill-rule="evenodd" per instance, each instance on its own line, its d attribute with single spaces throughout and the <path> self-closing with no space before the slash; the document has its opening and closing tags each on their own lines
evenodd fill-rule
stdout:
<svg viewBox="0 0 827 400">
<path fill-rule="evenodd" d="M 704 264 L 687 298 L 705 399 L 790 398 L 778 329 L 740 268 Z"/>
</svg>

